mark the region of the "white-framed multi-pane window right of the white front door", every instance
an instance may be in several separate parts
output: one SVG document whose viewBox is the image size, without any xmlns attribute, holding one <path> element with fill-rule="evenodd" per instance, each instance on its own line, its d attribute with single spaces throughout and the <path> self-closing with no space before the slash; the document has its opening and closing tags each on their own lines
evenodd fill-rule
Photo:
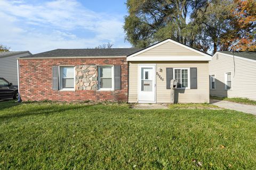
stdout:
<svg viewBox="0 0 256 170">
<path fill-rule="evenodd" d="M 177 80 L 177 88 L 189 87 L 189 69 L 174 69 L 174 79 Z"/>
</svg>

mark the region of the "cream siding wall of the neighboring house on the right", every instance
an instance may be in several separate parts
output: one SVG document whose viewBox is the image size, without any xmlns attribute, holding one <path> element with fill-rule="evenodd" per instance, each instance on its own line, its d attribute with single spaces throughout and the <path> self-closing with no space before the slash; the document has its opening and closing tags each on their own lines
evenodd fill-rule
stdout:
<svg viewBox="0 0 256 170">
<path fill-rule="evenodd" d="M 232 88 L 225 90 L 225 73 L 231 72 Z M 244 97 L 256 100 L 256 63 L 219 54 L 209 64 L 210 75 L 215 75 L 216 89 L 211 96 Z"/>
</svg>

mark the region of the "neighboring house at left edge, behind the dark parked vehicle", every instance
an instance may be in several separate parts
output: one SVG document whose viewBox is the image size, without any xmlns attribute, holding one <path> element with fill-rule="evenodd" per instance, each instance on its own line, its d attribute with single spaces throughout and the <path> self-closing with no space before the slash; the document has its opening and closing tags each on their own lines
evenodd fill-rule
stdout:
<svg viewBox="0 0 256 170">
<path fill-rule="evenodd" d="M 0 78 L 18 85 L 17 58 L 32 55 L 25 52 L 0 52 Z"/>
</svg>

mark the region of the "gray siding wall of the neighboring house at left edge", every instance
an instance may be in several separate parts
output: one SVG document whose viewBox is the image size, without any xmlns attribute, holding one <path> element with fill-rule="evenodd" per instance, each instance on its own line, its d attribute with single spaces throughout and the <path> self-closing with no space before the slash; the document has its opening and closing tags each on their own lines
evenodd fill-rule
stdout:
<svg viewBox="0 0 256 170">
<path fill-rule="evenodd" d="M 17 58 L 27 55 L 29 54 L 0 57 L 0 77 L 18 85 Z"/>
</svg>

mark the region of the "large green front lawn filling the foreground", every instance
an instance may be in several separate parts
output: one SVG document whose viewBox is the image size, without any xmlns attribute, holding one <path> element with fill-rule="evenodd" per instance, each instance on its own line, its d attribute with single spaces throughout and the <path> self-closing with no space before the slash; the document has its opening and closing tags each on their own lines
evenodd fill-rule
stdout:
<svg viewBox="0 0 256 170">
<path fill-rule="evenodd" d="M 0 102 L 0 169 L 256 169 L 255 141 L 229 110 Z"/>
</svg>

